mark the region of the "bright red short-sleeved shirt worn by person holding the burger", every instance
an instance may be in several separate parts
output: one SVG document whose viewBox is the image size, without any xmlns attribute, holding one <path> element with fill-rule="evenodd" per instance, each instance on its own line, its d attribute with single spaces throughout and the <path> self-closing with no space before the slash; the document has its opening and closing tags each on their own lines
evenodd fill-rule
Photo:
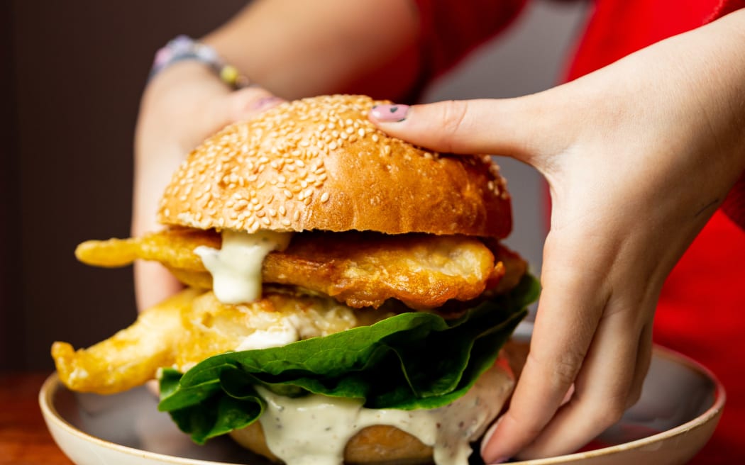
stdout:
<svg viewBox="0 0 745 465">
<path fill-rule="evenodd" d="M 523 3 L 417 1 L 425 70 L 431 76 L 446 70 L 504 28 Z M 596 0 L 593 6 L 568 80 L 745 7 L 745 0 Z M 656 313 L 656 343 L 706 365 L 728 393 L 720 425 L 694 464 L 745 464 L 744 228 L 745 177 L 673 269 Z"/>
</svg>

